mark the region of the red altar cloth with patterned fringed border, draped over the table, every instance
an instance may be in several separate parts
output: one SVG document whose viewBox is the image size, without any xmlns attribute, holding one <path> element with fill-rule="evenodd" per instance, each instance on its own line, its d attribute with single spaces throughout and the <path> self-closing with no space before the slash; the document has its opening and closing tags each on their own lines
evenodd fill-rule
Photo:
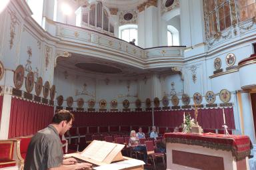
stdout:
<svg viewBox="0 0 256 170">
<path fill-rule="evenodd" d="M 244 159 L 251 153 L 252 144 L 247 135 L 229 135 L 215 133 L 165 133 L 166 142 L 200 145 L 211 149 L 231 151 L 236 160 Z"/>
</svg>

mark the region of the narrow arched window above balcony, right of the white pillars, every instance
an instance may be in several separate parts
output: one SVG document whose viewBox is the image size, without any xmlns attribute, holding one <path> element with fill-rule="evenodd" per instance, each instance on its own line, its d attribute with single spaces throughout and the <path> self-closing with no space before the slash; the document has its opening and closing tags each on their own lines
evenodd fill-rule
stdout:
<svg viewBox="0 0 256 170">
<path fill-rule="evenodd" d="M 172 25 L 167 26 L 168 46 L 179 46 L 179 31 Z"/>
</svg>

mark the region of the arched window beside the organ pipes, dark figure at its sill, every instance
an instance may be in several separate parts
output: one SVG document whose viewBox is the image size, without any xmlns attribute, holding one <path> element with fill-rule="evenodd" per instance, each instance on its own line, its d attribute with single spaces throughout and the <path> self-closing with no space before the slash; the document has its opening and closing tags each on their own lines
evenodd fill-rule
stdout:
<svg viewBox="0 0 256 170">
<path fill-rule="evenodd" d="M 138 27 L 137 25 L 123 25 L 119 27 L 119 38 L 130 42 L 135 39 L 135 45 L 138 44 Z"/>
</svg>

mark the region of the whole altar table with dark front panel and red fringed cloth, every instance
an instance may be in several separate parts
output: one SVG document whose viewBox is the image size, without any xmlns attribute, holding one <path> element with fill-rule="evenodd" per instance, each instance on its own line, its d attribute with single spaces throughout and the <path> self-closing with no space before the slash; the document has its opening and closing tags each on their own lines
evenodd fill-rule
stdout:
<svg viewBox="0 0 256 170">
<path fill-rule="evenodd" d="M 252 145 L 246 135 L 165 133 L 167 169 L 249 169 Z"/>
</svg>

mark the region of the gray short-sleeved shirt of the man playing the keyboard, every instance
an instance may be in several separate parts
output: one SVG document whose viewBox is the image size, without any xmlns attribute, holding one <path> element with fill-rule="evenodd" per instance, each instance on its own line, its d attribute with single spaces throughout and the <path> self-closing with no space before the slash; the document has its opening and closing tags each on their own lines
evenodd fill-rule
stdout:
<svg viewBox="0 0 256 170">
<path fill-rule="evenodd" d="M 59 133 L 52 125 L 37 131 L 32 137 L 25 159 L 24 170 L 45 170 L 63 163 Z"/>
</svg>

